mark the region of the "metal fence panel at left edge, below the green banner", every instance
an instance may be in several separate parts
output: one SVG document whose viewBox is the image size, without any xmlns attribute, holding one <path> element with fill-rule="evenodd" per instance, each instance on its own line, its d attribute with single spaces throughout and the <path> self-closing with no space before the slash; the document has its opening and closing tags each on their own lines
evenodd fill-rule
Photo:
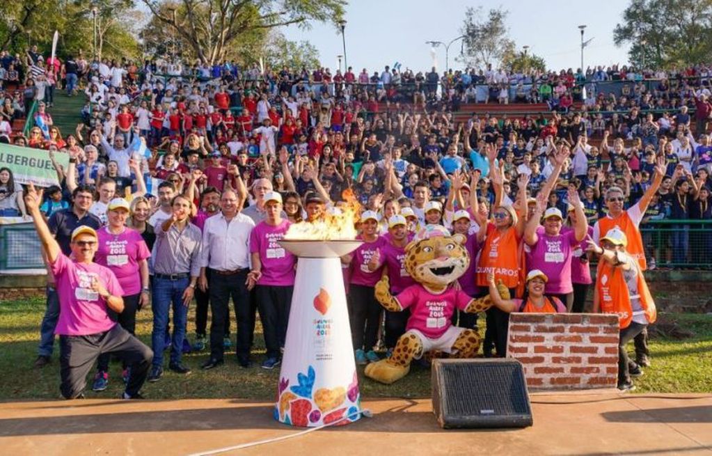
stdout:
<svg viewBox="0 0 712 456">
<path fill-rule="evenodd" d="M 0 270 L 44 267 L 34 224 L 0 224 Z"/>
</svg>

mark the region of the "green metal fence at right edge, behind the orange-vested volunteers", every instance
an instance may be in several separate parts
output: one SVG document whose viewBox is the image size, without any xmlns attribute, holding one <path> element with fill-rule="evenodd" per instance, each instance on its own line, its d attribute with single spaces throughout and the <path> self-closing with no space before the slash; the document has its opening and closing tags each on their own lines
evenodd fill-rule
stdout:
<svg viewBox="0 0 712 456">
<path fill-rule="evenodd" d="M 652 220 L 640 232 L 649 269 L 712 269 L 712 219 Z"/>
</svg>

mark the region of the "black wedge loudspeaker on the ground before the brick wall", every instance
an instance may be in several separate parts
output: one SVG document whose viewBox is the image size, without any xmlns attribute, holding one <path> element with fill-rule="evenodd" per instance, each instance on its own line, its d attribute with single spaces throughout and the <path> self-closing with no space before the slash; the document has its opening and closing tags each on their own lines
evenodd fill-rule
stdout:
<svg viewBox="0 0 712 456">
<path fill-rule="evenodd" d="M 436 359 L 433 412 L 441 427 L 527 427 L 533 424 L 519 361 Z"/>
</svg>

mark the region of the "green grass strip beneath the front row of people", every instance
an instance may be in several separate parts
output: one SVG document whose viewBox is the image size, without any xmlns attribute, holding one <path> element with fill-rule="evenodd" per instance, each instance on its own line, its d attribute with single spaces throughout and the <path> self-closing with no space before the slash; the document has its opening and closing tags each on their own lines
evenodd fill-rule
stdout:
<svg viewBox="0 0 712 456">
<path fill-rule="evenodd" d="M 58 398 L 58 346 L 52 363 L 41 370 L 33 368 L 36 358 L 38 328 L 44 311 L 43 299 L 4 301 L 0 303 L 0 400 Z M 190 312 L 188 333 L 192 338 L 193 309 Z M 150 345 L 151 311 L 138 315 L 137 333 Z M 695 335 L 681 341 L 665 338 L 651 339 L 653 366 L 636 380 L 637 391 L 643 393 L 708 393 L 712 390 L 712 316 L 679 315 L 674 317 L 682 327 Z M 234 330 L 234 323 L 232 325 Z M 261 362 L 264 345 L 259 325 L 253 348 L 253 359 Z M 632 346 L 631 346 L 632 348 Z M 232 353 L 234 354 L 234 352 Z M 211 371 L 198 366 L 206 353 L 189 354 L 186 364 L 193 368 L 188 376 L 166 371 L 157 383 L 147 384 L 144 393 L 150 398 L 248 398 L 272 400 L 276 395 L 279 370 L 264 371 L 255 366 L 239 368 L 234 356 L 226 355 L 226 364 Z M 258 364 L 257 363 L 257 364 Z M 430 396 L 430 371 L 413 366 L 411 373 L 394 385 L 381 385 L 364 378 L 359 368 L 360 386 L 365 398 Z M 87 392 L 89 398 L 114 398 L 122 391 L 120 365 L 112 363 L 110 386 L 102 393 Z M 88 383 L 90 387 L 90 380 Z"/>
</svg>

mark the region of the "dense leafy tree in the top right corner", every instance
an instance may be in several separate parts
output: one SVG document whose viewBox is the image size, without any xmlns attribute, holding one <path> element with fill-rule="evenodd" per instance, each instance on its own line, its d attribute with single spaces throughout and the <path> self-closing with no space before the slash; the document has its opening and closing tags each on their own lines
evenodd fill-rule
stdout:
<svg viewBox="0 0 712 456">
<path fill-rule="evenodd" d="M 614 43 L 631 43 L 631 61 L 671 67 L 712 59 L 712 0 L 632 0 Z M 642 44 L 644 43 L 644 44 Z"/>
</svg>

